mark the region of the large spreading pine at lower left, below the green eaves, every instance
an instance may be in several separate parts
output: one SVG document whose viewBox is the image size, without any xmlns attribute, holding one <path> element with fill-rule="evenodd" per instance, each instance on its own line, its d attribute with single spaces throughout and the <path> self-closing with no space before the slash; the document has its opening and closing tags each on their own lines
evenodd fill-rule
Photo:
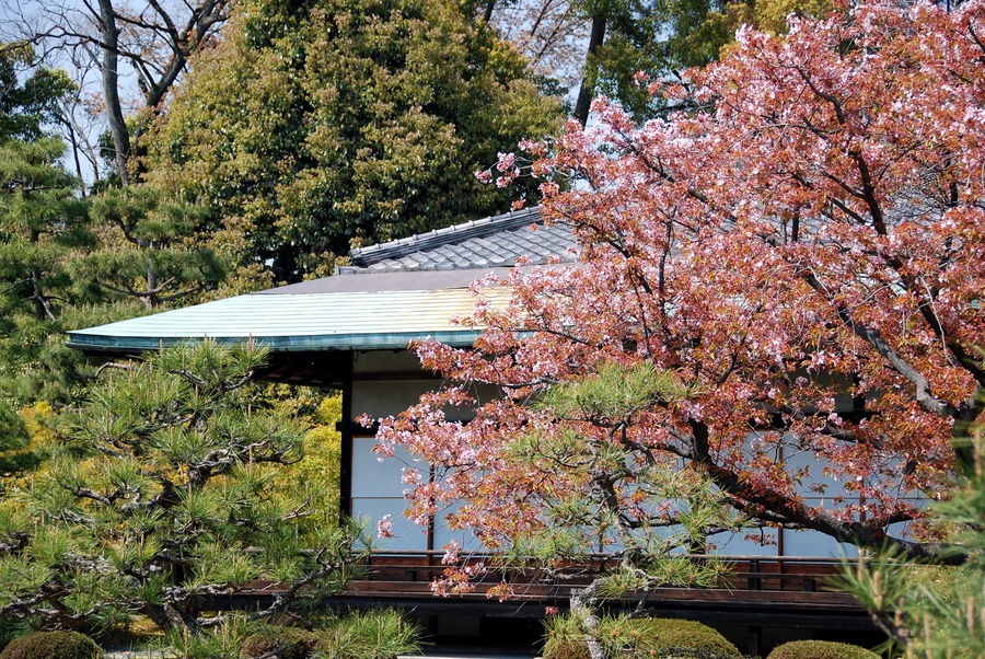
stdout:
<svg viewBox="0 0 985 659">
<path fill-rule="evenodd" d="M 304 428 L 257 404 L 264 357 L 198 344 L 104 371 L 61 454 L 0 507 L 0 616 L 196 633 L 229 617 L 198 598 L 254 579 L 289 583 L 254 620 L 337 588 L 350 531 L 306 523 L 313 489 L 274 494 Z"/>
</svg>

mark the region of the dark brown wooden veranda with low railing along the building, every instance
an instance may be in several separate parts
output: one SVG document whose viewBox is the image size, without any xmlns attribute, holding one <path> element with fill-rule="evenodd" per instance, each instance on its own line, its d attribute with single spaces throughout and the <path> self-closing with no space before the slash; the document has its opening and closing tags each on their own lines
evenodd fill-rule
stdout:
<svg viewBox="0 0 985 659">
<path fill-rule="evenodd" d="M 518 567 L 496 568 L 474 583 L 471 592 L 436 596 L 431 582 L 445 565 L 440 551 L 374 552 L 358 569 L 345 592 L 326 598 L 326 609 L 378 606 L 413 611 L 421 616 L 476 616 L 538 618 L 548 606 L 564 611 L 571 590 L 589 583 L 600 570 L 611 567 L 612 556 L 598 554 L 588 563 L 571 565 L 554 575 Z M 662 587 L 652 590 L 645 606 L 651 615 L 686 617 L 714 625 L 745 627 L 750 651 L 757 650 L 763 628 L 811 629 L 818 633 L 871 633 L 876 627 L 867 612 L 850 594 L 838 592 L 832 577 L 839 560 L 809 556 L 708 556 L 695 560 L 727 562 L 727 576 L 712 588 Z M 470 557 L 495 566 L 494 556 Z M 491 588 L 506 581 L 513 597 L 489 597 Z M 209 602 L 216 608 L 252 609 L 266 605 L 282 589 L 277 582 L 254 582 L 235 596 Z M 636 608 L 640 593 L 627 593 L 606 606 Z"/>
</svg>

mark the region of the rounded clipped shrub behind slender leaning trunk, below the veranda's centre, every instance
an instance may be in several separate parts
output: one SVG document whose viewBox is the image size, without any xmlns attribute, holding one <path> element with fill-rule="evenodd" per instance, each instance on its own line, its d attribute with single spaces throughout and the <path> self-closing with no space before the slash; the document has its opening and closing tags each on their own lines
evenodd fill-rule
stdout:
<svg viewBox="0 0 985 659">
<path fill-rule="evenodd" d="M 584 621 L 577 614 L 545 621 L 544 659 L 588 659 Z M 607 657 L 741 659 L 742 652 L 711 627 L 677 618 L 605 616 L 594 633 Z"/>
</svg>

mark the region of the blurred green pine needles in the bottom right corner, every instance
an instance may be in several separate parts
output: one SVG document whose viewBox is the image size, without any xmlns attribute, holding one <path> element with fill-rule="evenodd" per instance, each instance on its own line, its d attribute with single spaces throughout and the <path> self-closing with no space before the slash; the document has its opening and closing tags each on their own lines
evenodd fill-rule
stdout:
<svg viewBox="0 0 985 659">
<path fill-rule="evenodd" d="M 946 533 L 941 558 L 926 565 L 883 552 L 846 563 L 839 586 L 854 594 L 907 657 L 985 656 L 985 436 L 981 424 L 957 440 L 970 456 L 963 479 L 934 504 L 930 520 Z"/>
</svg>

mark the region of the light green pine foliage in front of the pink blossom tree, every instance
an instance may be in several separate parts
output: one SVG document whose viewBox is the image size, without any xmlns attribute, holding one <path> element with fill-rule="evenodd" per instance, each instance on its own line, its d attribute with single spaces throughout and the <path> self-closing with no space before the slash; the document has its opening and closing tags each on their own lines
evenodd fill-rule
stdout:
<svg viewBox="0 0 985 659">
<path fill-rule="evenodd" d="M 728 569 L 695 563 L 680 550 L 703 552 L 708 536 L 738 531 L 743 521 L 702 474 L 649 460 L 646 447 L 626 436 L 613 441 L 654 404 L 687 395 L 672 373 L 649 363 L 601 365 L 598 373 L 553 386 L 535 404 L 544 414 L 570 421 L 546 436 L 512 442 L 519 469 L 570 474 L 570 487 L 542 495 L 543 528 L 515 542 L 518 557 L 577 558 L 599 551 L 621 552 L 625 562 L 598 585 L 617 597 L 648 585 L 711 586 Z M 592 475 L 605 474 L 605 478 Z"/>
</svg>

